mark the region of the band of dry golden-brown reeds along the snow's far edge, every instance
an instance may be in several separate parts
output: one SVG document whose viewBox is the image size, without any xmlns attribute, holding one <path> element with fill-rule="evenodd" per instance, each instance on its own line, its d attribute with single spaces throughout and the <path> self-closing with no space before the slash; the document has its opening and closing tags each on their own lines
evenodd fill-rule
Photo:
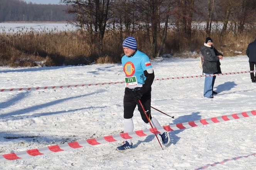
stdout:
<svg viewBox="0 0 256 170">
<path fill-rule="evenodd" d="M 238 55 L 238 52 L 245 54 L 248 43 L 255 37 L 248 32 L 234 34 L 229 32 L 220 41 L 219 32 L 213 32 L 211 37 L 216 48 L 224 56 Z M 151 58 L 151 40 L 148 36 L 137 32 L 133 35 L 138 42 L 138 49 L 147 53 Z M 122 39 L 117 32 L 106 32 L 103 39 L 102 50 L 99 44 L 91 42 L 86 32 L 55 32 L 54 30 L 20 30 L 17 33 L 0 33 L 0 66 L 9 67 L 33 67 L 60 66 L 60 65 L 87 65 L 95 63 L 117 63 L 123 55 Z M 205 40 L 205 33 L 202 30 L 194 30 L 191 38 L 186 38 L 182 33 L 169 31 L 163 53 L 171 56 L 191 56 L 196 52 L 199 55 L 200 47 Z M 158 39 L 160 43 L 160 38 Z"/>
</svg>

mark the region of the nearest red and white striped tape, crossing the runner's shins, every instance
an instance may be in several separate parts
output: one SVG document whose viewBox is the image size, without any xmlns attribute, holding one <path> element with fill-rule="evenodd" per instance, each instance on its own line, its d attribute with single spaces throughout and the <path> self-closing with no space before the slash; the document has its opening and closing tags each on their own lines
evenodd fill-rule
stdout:
<svg viewBox="0 0 256 170">
<path fill-rule="evenodd" d="M 224 121 L 228 121 L 228 120 L 246 118 L 246 117 L 251 117 L 251 116 L 256 116 L 256 110 L 252 110 L 249 112 L 242 112 L 242 113 L 234 113 L 231 115 L 224 115 L 224 116 L 220 116 L 220 117 L 201 119 L 201 120 L 185 122 L 185 123 L 171 124 L 171 125 L 163 126 L 161 128 L 150 128 L 150 129 L 144 129 L 144 130 L 137 130 L 137 131 L 129 132 L 129 133 L 120 133 L 118 135 L 109 135 L 109 136 L 100 137 L 100 138 L 91 138 L 91 139 L 87 139 L 87 140 L 83 140 L 83 141 L 64 143 L 61 145 L 54 145 L 54 146 L 43 147 L 43 148 L 38 148 L 38 149 L 31 149 L 31 150 L 26 150 L 26 151 L 22 151 L 22 152 L 8 153 L 8 154 L 0 155 L 0 162 L 5 162 L 7 160 L 30 158 L 30 157 L 35 157 L 38 155 L 46 155 L 49 153 L 60 152 L 60 151 L 64 151 L 64 150 L 71 150 L 71 149 L 82 148 L 82 147 L 88 147 L 88 146 L 93 146 L 93 145 L 99 145 L 99 144 L 103 144 L 103 143 L 116 142 L 118 140 L 137 138 L 137 137 L 145 137 L 148 135 L 159 134 L 159 133 L 163 133 L 163 132 L 187 129 L 187 128 L 209 125 L 212 123 L 219 123 L 219 122 L 224 122 Z"/>
</svg>

